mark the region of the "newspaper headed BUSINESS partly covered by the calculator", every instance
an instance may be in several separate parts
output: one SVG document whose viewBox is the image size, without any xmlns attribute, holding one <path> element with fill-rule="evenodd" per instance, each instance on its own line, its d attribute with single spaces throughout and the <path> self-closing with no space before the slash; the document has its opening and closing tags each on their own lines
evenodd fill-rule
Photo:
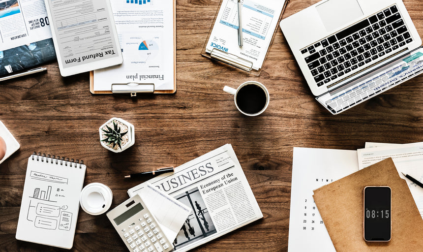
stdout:
<svg viewBox="0 0 423 252">
<path fill-rule="evenodd" d="M 148 181 L 191 207 L 173 245 L 185 252 L 209 242 L 263 214 L 248 185 L 234 150 L 226 144 Z M 128 190 L 137 194 L 147 182 Z"/>
</svg>

